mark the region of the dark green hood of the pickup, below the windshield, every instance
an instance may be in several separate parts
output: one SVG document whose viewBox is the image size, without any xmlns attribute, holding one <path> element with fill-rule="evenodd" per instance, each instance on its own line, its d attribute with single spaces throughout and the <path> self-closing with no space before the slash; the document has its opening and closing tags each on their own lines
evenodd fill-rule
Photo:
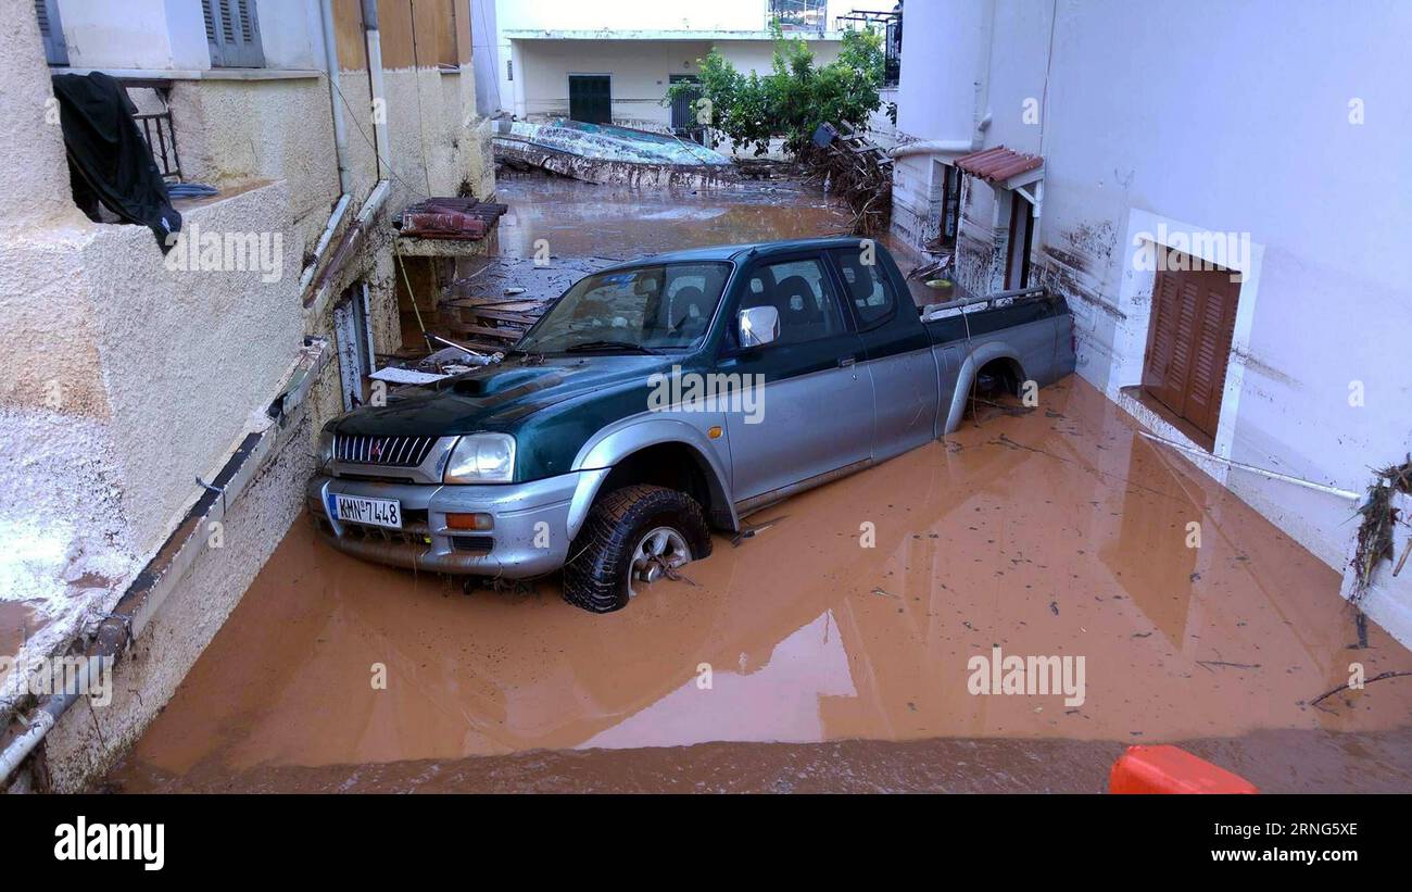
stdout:
<svg viewBox="0 0 1412 892">
<path fill-rule="evenodd" d="M 453 436 L 476 430 L 513 433 L 548 406 L 589 392 L 647 387 L 682 356 L 515 356 L 428 387 L 405 388 L 384 406 L 361 406 L 336 419 L 337 433 Z M 645 401 L 642 408 L 645 409 Z"/>
</svg>

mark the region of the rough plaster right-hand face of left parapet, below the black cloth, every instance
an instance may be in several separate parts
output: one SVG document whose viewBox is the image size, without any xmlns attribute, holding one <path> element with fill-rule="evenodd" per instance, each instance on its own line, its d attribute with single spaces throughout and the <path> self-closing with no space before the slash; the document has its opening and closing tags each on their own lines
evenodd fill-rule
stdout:
<svg viewBox="0 0 1412 892">
<path fill-rule="evenodd" d="M 219 469 L 299 350 L 299 253 L 288 206 L 277 182 L 191 209 L 184 220 L 188 233 L 268 239 L 271 253 L 278 241 L 278 278 L 258 268 L 169 270 L 172 255 L 133 226 L 97 226 L 85 250 L 124 514 L 144 553 L 175 526 L 199 493 L 195 477 Z"/>
</svg>

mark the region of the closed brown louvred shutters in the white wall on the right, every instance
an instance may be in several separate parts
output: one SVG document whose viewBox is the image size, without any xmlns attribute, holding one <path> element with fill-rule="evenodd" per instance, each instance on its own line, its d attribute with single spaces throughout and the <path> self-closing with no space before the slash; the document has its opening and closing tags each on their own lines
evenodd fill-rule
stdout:
<svg viewBox="0 0 1412 892">
<path fill-rule="evenodd" d="M 1152 287 L 1142 390 L 1214 438 L 1240 282 L 1224 270 L 1173 271 L 1176 264 L 1168 265 Z"/>
</svg>

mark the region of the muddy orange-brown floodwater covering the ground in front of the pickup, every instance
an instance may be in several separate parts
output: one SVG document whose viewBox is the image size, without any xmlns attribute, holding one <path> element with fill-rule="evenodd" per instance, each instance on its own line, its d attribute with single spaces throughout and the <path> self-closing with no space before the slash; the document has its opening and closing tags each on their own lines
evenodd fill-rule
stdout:
<svg viewBox="0 0 1412 892">
<path fill-rule="evenodd" d="M 1354 649 L 1339 576 L 1137 430 L 1066 378 L 609 615 L 302 518 L 109 785 L 1097 790 L 1124 745 L 1190 741 L 1267 789 L 1412 789 L 1412 679 L 1310 704 L 1412 655 Z M 995 646 L 1083 656 L 1083 703 L 970 693 Z"/>
</svg>

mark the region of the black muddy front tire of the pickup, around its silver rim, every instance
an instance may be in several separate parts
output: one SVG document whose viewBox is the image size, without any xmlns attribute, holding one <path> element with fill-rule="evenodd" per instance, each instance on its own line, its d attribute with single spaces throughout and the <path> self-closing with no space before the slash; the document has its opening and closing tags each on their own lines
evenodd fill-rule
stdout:
<svg viewBox="0 0 1412 892">
<path fill-rule="evenodd" d="M 652 486 L 614 490 L 594 502 L 573 539 L 573 560 L 563 567 L 563 600 L 593 613 L 627 607 L 633 558 L 648 534 L 685 545 L 686 560 L 710 555 L 710 531 L 695 498 Z"/>
</svg>

